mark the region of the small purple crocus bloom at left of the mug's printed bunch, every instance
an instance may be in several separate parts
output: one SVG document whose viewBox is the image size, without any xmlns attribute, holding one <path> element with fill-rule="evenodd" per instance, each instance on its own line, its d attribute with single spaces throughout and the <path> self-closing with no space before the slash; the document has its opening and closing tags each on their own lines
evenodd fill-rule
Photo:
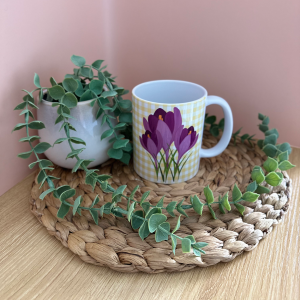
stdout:
<svg viewBox="0 0 300 300">
<path fill-rule="evenodd" d="M 157 154 L 162 149 L 163 138 L 159 131 L 150 132 L 146 130 L 145 134 L 140 137 L 140 142 L 144 149 L 153 157 L 157 167 Z"/>
</svg>

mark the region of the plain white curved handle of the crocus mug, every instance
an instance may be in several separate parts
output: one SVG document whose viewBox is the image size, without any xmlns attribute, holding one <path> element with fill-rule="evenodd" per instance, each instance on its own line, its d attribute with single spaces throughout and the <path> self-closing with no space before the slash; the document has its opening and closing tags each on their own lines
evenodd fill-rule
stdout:
<svg viewBox="0 0 300 300">
<path fill-rule="evenodd" d="M 231 139 L 231 135 L 232 135 L 233 118 L 232 118 L 232 111 L 231 111 L 229 104 L 221 97 L 207 96 L 206 106 L 209 106 L 212 104 L 220 105 L 223 109 L 224 119 L 225 119 L 223 135 L 222 135 L 219 143 L 216 146 L 214 146 L 210 149 L 202 149 L 201 148 L 201 152 L 200 152 L 201 157 L 213 157 L 213 156 L 217 156 L 220 153 L 222 153 L 228 146 L 230 139 Z"/>
</svg>

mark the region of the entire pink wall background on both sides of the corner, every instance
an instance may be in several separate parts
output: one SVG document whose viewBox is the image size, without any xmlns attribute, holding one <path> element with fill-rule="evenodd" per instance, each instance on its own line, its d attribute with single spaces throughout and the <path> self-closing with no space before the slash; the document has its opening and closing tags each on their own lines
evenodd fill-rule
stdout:
<svg viewBox="0 0 300 300">
<path fill-rule="evenodd" d="M 106 59 L 128 89 L 154 79 L 199 83 L 229 102 L 235 129 L 258 133 L 262 112 L 280 141 L 300 147 L 298 0 L 2 0 L 0 8 L 0 194 L 30 173 L 30 161 L 17 158 L 29 150 L 18 142 L 24 131 L 10 134 L 22 122 L 12 111 L 21 89 L 34 88 L 34 72 L 43 85 L 62 79 L 72 54 Z"/>
</svg>

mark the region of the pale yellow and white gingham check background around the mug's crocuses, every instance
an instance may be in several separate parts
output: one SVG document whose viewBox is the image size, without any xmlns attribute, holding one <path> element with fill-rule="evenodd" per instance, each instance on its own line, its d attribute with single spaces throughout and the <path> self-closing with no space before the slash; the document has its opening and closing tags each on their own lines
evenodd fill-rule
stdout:
<svg viewBox="0 0 300 300">
<path fill-rule="evenodd" d="M 200 162 L 200 149 L 202 144 L 203 125 L 205 117 L 205 99 L 203 98 L 183 104 L 159 104 L 142 100 L 133 96 L 132 99 L 132 115 L 133 115 L 133 164 L 134 169 L 141 177 L 158 183 L 178 183 L 191 179 L 199 170 Z M 167 180 L 163 181 L 161 175 L 158 174 L 158 179 L 155 173 L 153 164 L 149 158 L 149 153 L 143 148 L 140 143 L 139 137 L 145 133 L 143 125 L 143 118 L 148 120 L 150 114 L 154 114 L 158 108 L 164 109 L 166 112 L 174 111 L 174 107 L 177 107 L 182 116 L 182 124 L 188 128 L 194 126 L 194 129 L 199 133 L 199 137 L 195 146 L 190 149 L 186 155 L 190 155 L 188 161 L 184 165 L 180 177 L 176 175 L 173 181 L 171 174 L 168 175 Z M 171 149 L 176 149 L 174 143 Z M 160 154 L 158 154 L 158 161 Z"/>
</svg>

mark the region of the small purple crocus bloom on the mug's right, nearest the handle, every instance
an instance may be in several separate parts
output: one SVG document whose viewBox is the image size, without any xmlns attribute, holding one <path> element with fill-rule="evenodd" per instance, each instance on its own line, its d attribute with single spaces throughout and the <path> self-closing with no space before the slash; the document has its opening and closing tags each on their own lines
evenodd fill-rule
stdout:
<svg viewBox="0 0 300 300">
<path fill-rule="evenodd" d="M 194 130 L 194 127 L 184 128 L 175 138 L 175 147 L 178 151 L 177 163 L 179 163 L 182 156 L 187 153 L 197 143 L 199 134 Z"/>
</svg>

